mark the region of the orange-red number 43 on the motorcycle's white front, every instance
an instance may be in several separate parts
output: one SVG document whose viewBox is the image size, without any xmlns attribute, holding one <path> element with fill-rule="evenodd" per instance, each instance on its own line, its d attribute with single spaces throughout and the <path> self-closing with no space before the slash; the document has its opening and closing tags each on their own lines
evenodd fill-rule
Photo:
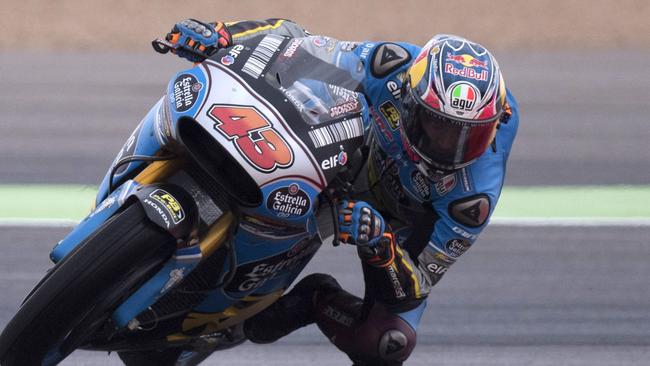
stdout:
<svg viewBox="0 0 650 366">
<path fill-rule="evenodd" d="M 257 108 L 213 104 L 208 117 L 253 168 L 269 173 L 293 164 L 293 150 Z"/>
</svg>

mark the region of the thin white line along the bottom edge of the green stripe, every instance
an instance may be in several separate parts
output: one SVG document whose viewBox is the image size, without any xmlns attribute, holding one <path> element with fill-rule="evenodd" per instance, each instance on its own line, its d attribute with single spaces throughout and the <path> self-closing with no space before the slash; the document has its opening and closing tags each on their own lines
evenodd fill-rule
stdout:
<svg viewBox="0 0 650 366">
<path fill-rule="evenodd" d="M 79 221 L 73 219 L 26 219 L 26 218 L 0 218 L 0 227 L 74 227 Z M 492 226 L 623 226 L 623 227 L 650 227 L 650 218 L 624 218 L 624 217 L 494 217 L 490 220 Z"/>
</svg>

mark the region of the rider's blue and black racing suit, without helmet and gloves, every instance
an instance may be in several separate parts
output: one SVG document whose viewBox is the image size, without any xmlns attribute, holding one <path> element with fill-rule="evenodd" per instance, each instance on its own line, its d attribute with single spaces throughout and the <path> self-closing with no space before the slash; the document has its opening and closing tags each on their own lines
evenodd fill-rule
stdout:
<svg viewBox="0 0 650 366">
<path fill-rule="evenodd" d="M 359 249 L 364 299 L 329 275 L 313 274 L 260 314 L 245 332 L 272 342 L 316 323 L 355 365 L 401 365 L 415 346 L 426 298 L 487 225 L 516 135 L 518 107 L 508 91 L 506 114 L 491 146 L 471 165 L 437 179 L 425 177 L 404 152 L 399 123 L 402 82 L 420 47 L 403 42 L 341 42 L 311 36 L 284 19 L 226 23 L 232 43 L 277 34 L 303 38 L 296 46 L 351 75 L 359 75 L 369 107 L 367 168 L 353 197 L 369 202 L 391 227 L 390 248 L 371 256 Z M 366 174 L 367 173 L 367 174 Z"/>
</svg>

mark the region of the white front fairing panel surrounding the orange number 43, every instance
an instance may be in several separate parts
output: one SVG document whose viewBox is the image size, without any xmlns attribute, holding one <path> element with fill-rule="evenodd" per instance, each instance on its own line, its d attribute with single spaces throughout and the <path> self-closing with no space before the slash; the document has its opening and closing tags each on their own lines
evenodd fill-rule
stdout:
<svg viewBox="0 0 650 366">
<path fill-rule="evenodd" d="M 260 187 L 265 184 L 283 177 L 292 177 L 304 179 L 311 184 L 322 189 L 326 185 L 325 177 L 322 175 L 318 164 L 309 151 L 307 146 L 300 141 L 299 137 L 290 129 L 287 121 L 284 120 L 278 110 L 272 106 L 268 101 L 263 99 L 257 94 L 244 80 L 234 74 L 227 68 L 212 62 L 204 62 L 202 64 L 203 72 L 209 83 L 209 91 L 205 102 L 199 109 L 195 119 L 201 126 L 208 131 L 215 140 L 224 146 L 232 156 L 241 162 L 246 171 L 255 179 Z M 227 133 L 222 131 L 223 124 L 215 117 L 216 113 L 211 112 L 213 108 L 229 108 L 233 107 L 238 110 L 256 110 L 263 116 L 262 118 L 268 122 L 267 126 L 252 131 L 247 136 L 240 136 L 245 142 L 254 144 L 261 144 L 265 147 L 271 155 L 281 152 L 282 159 L 279 159 L 274 166 L 260 166 L 255 163 L 255 159 L 250 159 L 246 152 L 242 150 L 241 144 L 237 143 L 237 136 L 228 136 Z M 223 110 L 223 109 L 221 109 Z M 224 112 L 225 113 L 225 112 Z M 232 112 L 228 112 L 230 121 L 237 123 L 237 121 L 246 120 L 245 117 L 234 116 Z M 249 118 L 250 120 L 251 118 Z M 302 121 L 294 121 L 296 123 L 303 123 Z M 234 124 L 230 125 L 235 126 Z M 266 131 L 266 132 L 265 132 Z M 265 139 L 266 136 L 274 136 L 275 140 L 281 141 L 280 145 L 286 144 L 282 149 L 278 149 L 274 144 L 269 144 L 269 140 Z M 280 140 L 278 140 L 278 138 Z M 240 141 L 241 142 L 241 141 Z M 287 149 L 288 147 L 288 149 Z M 258 157 L 264 155 L 264 152 L 258 147 L 255 148 Z M 269 150 L 270 149 L 270 150 Z M 290 157 L 286 152 L 289 151 Z M 254 155 L 254 154 L 253 154 Z M 268 155 L 268 154 L 267 154 Z M 237 179 L 237 177 L 228 177 L 230 179 Z"/>
</svg>

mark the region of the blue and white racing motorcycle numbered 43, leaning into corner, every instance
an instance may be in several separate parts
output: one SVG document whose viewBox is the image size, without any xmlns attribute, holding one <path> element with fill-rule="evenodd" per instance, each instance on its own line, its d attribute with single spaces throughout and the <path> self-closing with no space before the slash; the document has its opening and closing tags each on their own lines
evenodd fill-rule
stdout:
<svg viewBox="0 0 650 366">
<path fill-rule="evenodd" d="M 0 363 L 244 342 L 364 159 L 361 80 L 322 57 L 327 41 L 263 35 L 173 76 L 4 329 Z"/>
</svg>

